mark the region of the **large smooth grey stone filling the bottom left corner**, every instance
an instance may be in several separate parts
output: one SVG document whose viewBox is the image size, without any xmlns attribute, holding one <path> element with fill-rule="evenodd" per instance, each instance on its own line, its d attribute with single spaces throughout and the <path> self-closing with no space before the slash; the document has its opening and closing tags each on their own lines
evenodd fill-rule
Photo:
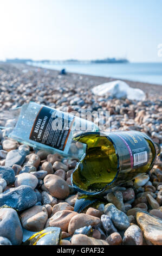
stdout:
<svg viewBox="0 0 162 256">
<path fill-rule="evenodd" d="M 0 236 L 7 237 L 12 245 L 20 245 L 23 231 L 17 212 L 12 208 L 1 208 L 0 220 Z"/>
</svg>

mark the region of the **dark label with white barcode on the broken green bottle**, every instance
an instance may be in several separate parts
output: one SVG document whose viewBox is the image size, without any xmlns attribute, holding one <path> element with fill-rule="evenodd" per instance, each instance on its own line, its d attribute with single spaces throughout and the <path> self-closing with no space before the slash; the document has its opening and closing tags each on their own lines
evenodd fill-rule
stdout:
<svg viewBox="0 0 162 256">
<path fill-rule="evenodd" d="M 108 137 L 116 146 L 121 166 L 125 168 L 130 165 L 135 169 L 147 164 L 149 149 L 146 136 L 143 133 L 137 131 L 113 132 L 109 133 Z"/>
</svg>

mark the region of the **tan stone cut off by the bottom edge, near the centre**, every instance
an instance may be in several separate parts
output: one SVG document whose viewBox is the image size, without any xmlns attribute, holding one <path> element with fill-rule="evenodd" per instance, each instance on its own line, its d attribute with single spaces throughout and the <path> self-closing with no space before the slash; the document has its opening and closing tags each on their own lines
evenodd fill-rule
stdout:
<svg viewBox="0 0 162 256">
<path fill-rule="evenodd" d="M 108 242 L 79 234 L 72 236 L 72 245 L 108 245 Z"/>
</svg>

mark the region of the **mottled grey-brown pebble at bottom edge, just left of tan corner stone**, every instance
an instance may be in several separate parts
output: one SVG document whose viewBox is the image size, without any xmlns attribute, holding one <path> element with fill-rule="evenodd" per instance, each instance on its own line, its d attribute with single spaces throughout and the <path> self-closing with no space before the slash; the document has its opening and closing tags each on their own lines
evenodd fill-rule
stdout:
<svg viewBox="0 0 162 256">
<path fill-rule="evenodd" d="M 124 233 L 122 238 L 122 243 L 124 245 L 142 245 L 143 235 L 141 229 L 138 225 L 131 225 Z"/>
</svg>

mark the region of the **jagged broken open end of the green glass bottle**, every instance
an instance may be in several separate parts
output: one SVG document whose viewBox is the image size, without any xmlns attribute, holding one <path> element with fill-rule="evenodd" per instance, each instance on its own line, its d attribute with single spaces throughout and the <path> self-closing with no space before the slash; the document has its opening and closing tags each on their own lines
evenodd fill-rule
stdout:
<svg viewBox="0 0 162 256">
<path fill-rule="evenodd" d="M 87 132 L 73 139 L 86 144 L 86 153 L 72 174 L 73 187 L 88 195 L 104 192 L 119 173 L 119 157 L 115 145 L 101 132 Z"/>
</svg>

